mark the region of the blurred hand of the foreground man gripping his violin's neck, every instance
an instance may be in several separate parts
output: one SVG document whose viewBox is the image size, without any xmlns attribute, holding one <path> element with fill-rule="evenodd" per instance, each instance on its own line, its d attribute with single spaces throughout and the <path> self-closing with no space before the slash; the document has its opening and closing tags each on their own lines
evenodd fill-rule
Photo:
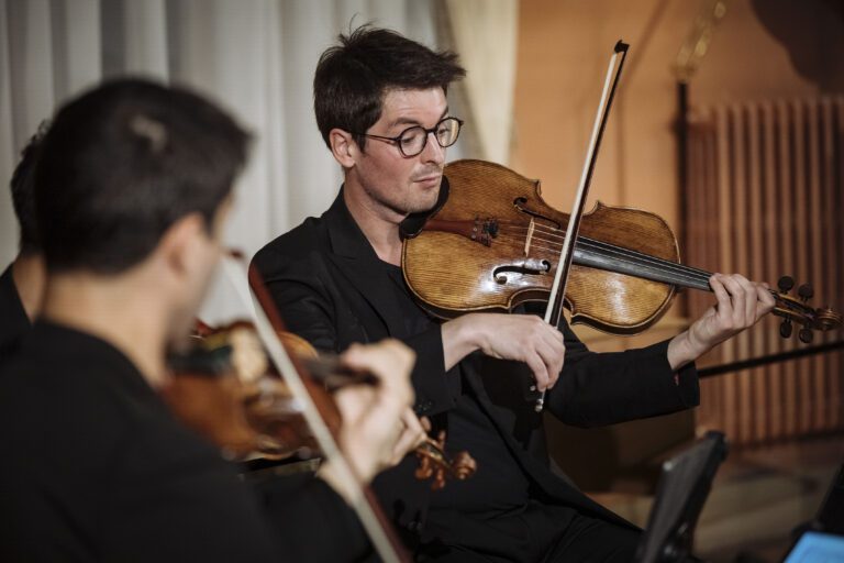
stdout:
<svg viewBox="0 0 844 563">
<path fill-rule="evenodd" d="M 349 386 L 334 394 L 343 418 L 340 449 L 360 481 L 369 483 L 424 439 L 424 430 L 411 410 L 410 372 L 415 355 L 399 341 L 386 340 L 352 345 L 341 360 L 378 378 L 377 385 Z M 347 501 L 355 500 L 357 493 L 347 490 L 331 462 L 320 468 L 320 476 Z"/>
</svg>

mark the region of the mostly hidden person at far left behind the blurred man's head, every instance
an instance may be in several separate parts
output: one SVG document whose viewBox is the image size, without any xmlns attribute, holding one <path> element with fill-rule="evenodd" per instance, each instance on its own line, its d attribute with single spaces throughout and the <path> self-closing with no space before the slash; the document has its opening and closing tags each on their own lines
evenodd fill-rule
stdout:
<svg viewBox="0 0 844 563">
<path fill-rule="evenodd" d="M 0 276 L 0 363 L 32 327 L 44 292 L 44 260 L 35 228 L 33 176 L 38 146 L 46 128 L 32 136 L 9 183 L 20 227 L 20 247 L 14 262 Z"/>
</svg>

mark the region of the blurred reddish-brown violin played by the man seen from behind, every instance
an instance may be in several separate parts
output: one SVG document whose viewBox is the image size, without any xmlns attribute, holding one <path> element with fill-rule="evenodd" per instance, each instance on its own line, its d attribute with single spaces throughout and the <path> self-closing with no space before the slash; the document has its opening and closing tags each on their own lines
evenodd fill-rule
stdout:
<svg viewBox="0 0 844 563">
<path fill-rule="evenodd" d="M 373 385 L 375 379 L 344 366 L 336 356 L 320 357 L 311 344 L 291 332 L 279 340 L 307 366 L 311 393 L 325 396 L 331 406 L 326 422 L 337 431 L 340 411 L 326 395 L 347 385 Z M 198 323 L 192 345 L 170 356 L 175 377 L 164 395 L 176 413 L 191 428 L 215 443 L 227 457 L 260 454 L 268 459 L 292 455 L 311 457 L 320 450 L 302 416 L 301 405 L 267 361 L 251 323 L 238 321 L 211 329 Z M 316 384 L 316 385 L 314 385 Z M 420 466 L 415 476 L 432 479 L 434 490 L 446 478 L 466 479 L 477 464 L 468 452 L 452 457 L 445 434 L 427 438 L 415 450 Z"/>
</svg>

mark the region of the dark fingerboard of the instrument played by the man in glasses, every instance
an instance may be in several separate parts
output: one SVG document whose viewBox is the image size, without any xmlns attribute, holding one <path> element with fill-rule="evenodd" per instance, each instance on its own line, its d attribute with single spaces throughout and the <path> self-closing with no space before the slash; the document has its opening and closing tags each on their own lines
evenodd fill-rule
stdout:
<svg viewBox="0 0 844 563">
<path fill-rule="evenodd" d="M 575 245 L 575 264 L 660 282 L 678 287 L 711 291 L 712 274 L 676 262 L 580 236 Z"/>
</svg>

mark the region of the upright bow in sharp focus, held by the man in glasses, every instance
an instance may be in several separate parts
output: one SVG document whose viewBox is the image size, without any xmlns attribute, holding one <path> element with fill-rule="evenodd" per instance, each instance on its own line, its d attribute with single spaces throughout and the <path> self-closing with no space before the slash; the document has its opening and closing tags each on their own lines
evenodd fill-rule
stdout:
<svg viewBox="0 0 844 563">
<path fill-rule="evenodd" d="M 559 252 L 559 260 L 557 261 L 557 272 L 554 275 L 554 284 L 551 286 L 548 307 L 545 309 L 545 322 L 553 327 L 558 327 L 563 317 L 566 284 L 568 283 L 568 274 L 571 269 L 571 260 L 575 254 L 575 241 L 577 241 L 577 233 L 580 230 L 580 221 L 584 216 L 584 208 L 586 207 L 586 197 L 589 194 L 589 186 L 592 183 L 592 172 L 595 170 L 595 163 L 598 159 L 598 148 L 601 145 L 601 139 L 603 139 L 603 131 L 607 128 L 607 120 L 610 115 L 610 107 L 612 106 L 612 100 L 615 97 L 615 89 L 619 86 L 621 69 L 624 66 L 624 59 L 628 56 L 629 47 L 630 45 L 619 40 L 619 42 L 615 43 L 615 46 L 613 47 L 612 56 L 610 57 L 610 64 L 607 68 L 607 78 L 603 81 L 601 101 L 598 104 L 598 111 L 595 115 L 592 135 L 589 140 L 589 147 L 586 152 L 584 170 L 580 174 L 580 184 L 577 188 L 577 194 L 575 195 L 575 202 L 571 208 L 571 214 L 568 218 L 566 238 L 563 240 L 563 249 Z M 531 390 L 534 389 L 535 386 L 531 388 Z M 542 412 L 544 406 L 545 391 L 542 391 L 540 397 L 536 399 L 536 412 Z"/>
</svg>

